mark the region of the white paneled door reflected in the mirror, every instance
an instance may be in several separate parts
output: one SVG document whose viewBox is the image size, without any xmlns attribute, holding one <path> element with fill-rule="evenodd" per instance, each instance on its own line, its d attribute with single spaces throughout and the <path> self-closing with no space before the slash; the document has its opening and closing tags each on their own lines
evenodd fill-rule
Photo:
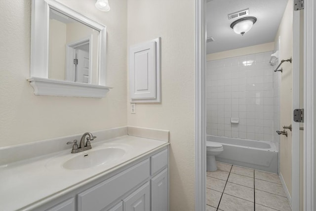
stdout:
<svg viewBox="0 0 316 211">
<path fill-rule="evenodd" d="M 89 83 L 89 52 L 77 49 L 76 82 Z"/>
</svg>

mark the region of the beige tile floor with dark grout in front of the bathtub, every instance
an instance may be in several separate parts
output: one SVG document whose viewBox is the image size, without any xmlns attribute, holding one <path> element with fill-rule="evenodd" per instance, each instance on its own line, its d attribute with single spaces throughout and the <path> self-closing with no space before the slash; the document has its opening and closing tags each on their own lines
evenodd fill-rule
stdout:
<svg viewBox="0 0 316 211">
<path fill-rule="evenodd" d="M 217 162 L 207 171 L 206 211 L 291 211 L 277 174 Z"/>
</svg>

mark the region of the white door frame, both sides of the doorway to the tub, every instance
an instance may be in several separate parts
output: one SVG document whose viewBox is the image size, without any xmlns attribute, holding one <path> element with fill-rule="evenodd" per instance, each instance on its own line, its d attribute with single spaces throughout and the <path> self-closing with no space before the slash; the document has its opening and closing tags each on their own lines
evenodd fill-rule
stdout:
<svg viewBox="0 0 316 211">
<path fill-rule="evenodd" d="M 206 123 L 205 61 L 206 0 L 196 0 L 196 211 L 205 210 Z M 316 209 L 316 2 L 304 0 L 304 210 Z"/>
</svg>

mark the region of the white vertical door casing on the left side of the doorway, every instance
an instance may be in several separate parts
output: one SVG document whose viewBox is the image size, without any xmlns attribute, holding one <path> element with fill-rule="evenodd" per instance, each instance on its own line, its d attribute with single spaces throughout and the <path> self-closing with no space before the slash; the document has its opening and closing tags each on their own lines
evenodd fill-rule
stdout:
<svg viewBox="0 0 316 211">
<path fill-rule="evenodd" d="M 196 211 L 205 211 L 206 201 L 205 5 L 196 0 Z"/>
</svg>

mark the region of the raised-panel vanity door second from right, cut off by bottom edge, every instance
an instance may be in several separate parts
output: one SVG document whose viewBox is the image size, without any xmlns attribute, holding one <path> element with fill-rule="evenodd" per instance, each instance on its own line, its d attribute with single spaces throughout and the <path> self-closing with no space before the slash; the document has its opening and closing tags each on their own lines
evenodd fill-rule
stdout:
<svg viewBox="0 0 316 211">
<path fill-rule="evenodd" d="M 131 193 L 123 200 L 124 211 L 149 211 L 150 209 L 150 186 L 146 182 L 143 186 Z"/>
</svg>

